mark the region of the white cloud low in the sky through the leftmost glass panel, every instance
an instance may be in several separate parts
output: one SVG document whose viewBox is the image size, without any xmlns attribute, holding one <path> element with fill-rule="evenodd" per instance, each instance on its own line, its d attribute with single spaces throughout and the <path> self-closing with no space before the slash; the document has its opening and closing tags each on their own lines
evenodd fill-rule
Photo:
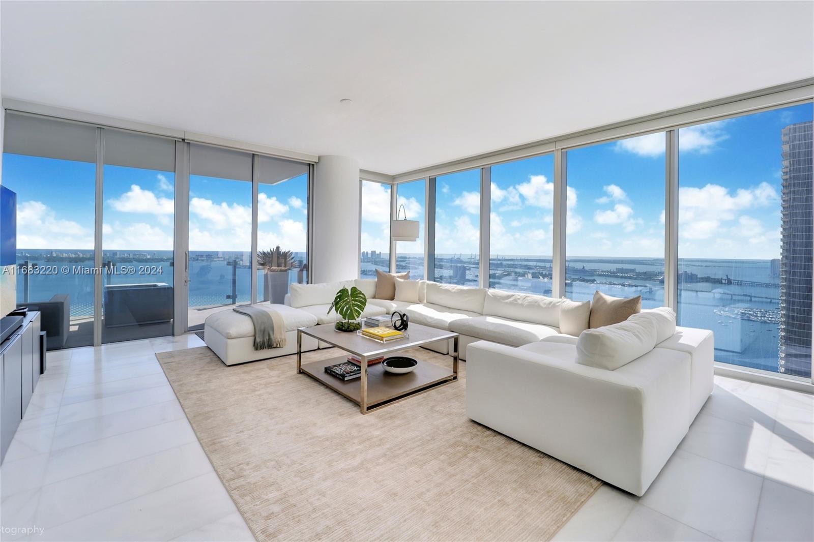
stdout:
<svg viewBox="0 0 814 542">
<path fill-rule="evenodd" d="M 25 201 L 17 206 L 17 247 L 92 249 L 93 216 L 88 225 L 64 220 L 54 209 L 39 201 Z"/>
</svg>

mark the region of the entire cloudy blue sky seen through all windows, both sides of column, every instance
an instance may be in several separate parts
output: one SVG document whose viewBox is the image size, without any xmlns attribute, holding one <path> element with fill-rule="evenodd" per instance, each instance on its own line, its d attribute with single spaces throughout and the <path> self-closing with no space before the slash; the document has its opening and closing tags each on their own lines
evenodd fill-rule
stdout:
<svg viewBox="0 0 814 542">
<path fill-rule="evenodd" d="M 812 120 L 812 105 L 680 130 L 680 257 L 780 254 L 781 129 Z M 569 151 L 568 256 L 663 256 L 664 135 Z M 492 167 L 491 249 L 551 254 L 551 155 Z M 18 247 L 90 249 L 94 164 L 5 155 L 3 184 L 18 193 Z M 390 188 L 362 183 L 362 250 L 389 250 Z M 478 251 L 479 171 L 438 177 L 436 250 Z M 425 216 L 424 183 L 399 187 L 409 218 Z M 104 247 L 172 248 L 173 174 L 105 167 Z M 259 246 L 304 251 L 307 178 L 261 185 Z M 248 250 L 251 184 L 190 177 L 190 248 Z M 421 253 L 419 243 L 399 243 Z"/>
</svg>

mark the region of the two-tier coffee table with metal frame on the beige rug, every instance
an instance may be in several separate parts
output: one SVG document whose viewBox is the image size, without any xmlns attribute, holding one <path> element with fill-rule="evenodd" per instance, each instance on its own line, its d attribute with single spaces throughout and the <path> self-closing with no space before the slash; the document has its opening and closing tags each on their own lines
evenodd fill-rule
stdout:
<svg viewBox="0 0 814 542">
<path fill-rule="evenodd" d="M 352 400 L 359 405 L 359 410 L 363 414 L 457 380 L 457 333 L 410 324 L 407 334 L 409 337 L 405 339 L 379 343 L 379 341 L 361 337 L 356 333 L 337 331 L 333 324 L 301 327 L 297 330 L 297 373 L 308 374 L 309 377 Z M 348 356 L 302 363 L 303 335 L 309 335 L 309 337 L 358 356 L 361 360 L 361 378 L 342 381 L 325 372 L 326 366 L 346 361 Z M 451 371 L 421 360 L 418 360 L 418 365 L 412 373 L 406 374 L 387 373 L 381 363 L 367 366 L 367 361 L 370 359 L 389 356 L 400 350 L 448 339 L 453 339 L 453 369 Z"/>
</svg>

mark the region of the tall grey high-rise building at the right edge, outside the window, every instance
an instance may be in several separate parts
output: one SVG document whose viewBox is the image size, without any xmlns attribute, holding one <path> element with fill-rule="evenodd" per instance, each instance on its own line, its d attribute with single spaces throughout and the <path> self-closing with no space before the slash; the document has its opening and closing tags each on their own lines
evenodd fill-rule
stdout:
<svg viewBox="0 0 814 542">
<path fill-rule="evenodd" d="M 812 122 L 782 131 L 780 367 L 812 374 Z"/>
</svg>

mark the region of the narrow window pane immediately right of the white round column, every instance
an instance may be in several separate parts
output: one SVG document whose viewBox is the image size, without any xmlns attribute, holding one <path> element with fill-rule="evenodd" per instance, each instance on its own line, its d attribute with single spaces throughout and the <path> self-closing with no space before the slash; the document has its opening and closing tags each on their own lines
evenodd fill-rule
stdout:
<svg viewBox="0 0 814 542">
<path fill-rule="evenodd" d="M 390 272 L 390 186 L 361 181 L 361 244 L 359 275 L 376 278 L 376 269 Z"/>
</svg>

